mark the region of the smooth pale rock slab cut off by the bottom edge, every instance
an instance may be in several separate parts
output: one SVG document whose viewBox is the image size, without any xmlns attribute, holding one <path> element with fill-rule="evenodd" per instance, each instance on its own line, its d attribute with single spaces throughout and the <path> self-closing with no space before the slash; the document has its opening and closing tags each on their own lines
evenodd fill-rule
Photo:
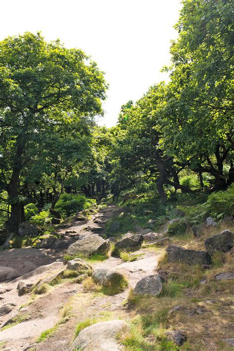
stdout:
<svg viewBox="0 0 234 351">
<path fill-rule="evenodd" d="M 80 331 L 69 351 L 120 351 L 116 336 L 126 329 L 127 323 L 120 319 L 90 325 Z"/>
</svg>

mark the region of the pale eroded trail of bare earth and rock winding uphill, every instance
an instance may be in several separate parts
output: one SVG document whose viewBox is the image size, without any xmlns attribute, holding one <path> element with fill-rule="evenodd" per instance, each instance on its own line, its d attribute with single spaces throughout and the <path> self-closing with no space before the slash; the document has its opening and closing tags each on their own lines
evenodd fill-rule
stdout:
<svg viewBox="0 0 234 351">
<path fill-rule="evenodd" d="M 106 209 L 94 214 L 87 223 L 72 223 L 71 226 L 63 228 L 60 233 L 62 240 L 69 245 L 84 236 L 104 231 L 105 223 L 119 208 L 109 206 Z M 84 291 L 82 283 L 65 281 L 51 287 L 48 292 L 37 295 L 33 300 L 28 294 L 18 296 L 16 287 L 20 280 L 35 283 L 46 275 L 59 272 L 64 269 L 63 255 L 65 249 L 56 250 L 43 249 L 51 263 L 41 265 L 35 270 L 21 276 L 8 284 L 1 284 L 2 287 L 11 289 L 1 295 L 1 304 L 12 304 L 10 313 L 0 317 L 1 325 L 7 319 L 17 314 L 24 315 L 24 321 L 0 331 L 0 341 L 6 341 L 2 350 L 32 350 L 39 351 L 65 351 L 68 350 L 74 335 L 75 326 L 87 318 L 102 318 L 110 316 L 112 319 L 131 317 L 131 310 L 124 306 L 130 288 L 143 277 L 156 271 L 157 255 L 147 249 L 140 249 L 134 254 L 139 255 L 136 261 L 123 262 L 118 258 L 109 258 L 103 262 L 91 263 L 92 267 L 116 268 L 123 273 L 128 281 L 128 287 L 121 293 L 109 296 L 103 293 Z M 26 306 L 23 308 L 22 304 Z M 61 323 L 62 322 L 62 323 Z M 58 324 L 60 323 L 60 324 Z M 56 327 L 55 327 L 56 326 Z M 36 343 L 42 332 L 54 328 L 48 339 Z"/>
</svg>

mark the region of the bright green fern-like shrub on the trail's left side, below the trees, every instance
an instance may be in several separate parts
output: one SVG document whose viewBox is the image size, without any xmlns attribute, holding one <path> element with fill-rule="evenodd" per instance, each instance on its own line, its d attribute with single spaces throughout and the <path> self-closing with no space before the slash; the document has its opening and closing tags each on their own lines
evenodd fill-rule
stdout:
<svg viewBox="0 0 234 351">
<path fill-rule="evenodd" d="M 79 211 L 86 210 L 96 203 L 94 199 L 87 199 L 84 195 L 61 194 L 55 205 L 63 217 L 69 217 Z"/>
</svg>

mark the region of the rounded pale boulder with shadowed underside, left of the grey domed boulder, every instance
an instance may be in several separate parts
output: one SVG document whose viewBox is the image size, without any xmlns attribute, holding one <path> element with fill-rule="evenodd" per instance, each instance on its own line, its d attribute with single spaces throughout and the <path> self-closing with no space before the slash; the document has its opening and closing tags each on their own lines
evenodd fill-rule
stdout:
<svg viewBox="0 0 234 351">
<path fill-rule="evenodd" d="M 118 286 L 124 280 L 122 273 L 113 268 L 98 268 L 93 273 L 95 283 L 104 286 Z"/>
</svg>

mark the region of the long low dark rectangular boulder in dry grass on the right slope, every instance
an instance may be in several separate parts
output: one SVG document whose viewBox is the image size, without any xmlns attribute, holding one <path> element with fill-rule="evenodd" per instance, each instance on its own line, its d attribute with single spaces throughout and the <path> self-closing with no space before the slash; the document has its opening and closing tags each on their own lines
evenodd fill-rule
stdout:
<svg viewBox="0 0 234 351">
<path fill-rule="evenodd" d="M 212 260 L 207 251 L 189 250 L 176 245 L 166 248 L 168 262 L 210 265 Z"/>
</svg>

